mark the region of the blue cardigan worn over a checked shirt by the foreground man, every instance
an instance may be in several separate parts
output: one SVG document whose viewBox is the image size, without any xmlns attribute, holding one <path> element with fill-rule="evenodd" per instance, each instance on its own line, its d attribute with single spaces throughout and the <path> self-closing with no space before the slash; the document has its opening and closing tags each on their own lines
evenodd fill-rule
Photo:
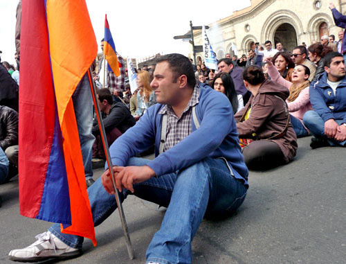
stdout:
<svg viewBox="0 0 346 264">
<path fill-rule="evenodd" d="M 155 143 L 156 157 L 147 166 L 158 177 L 192 166 L 206 157 L 224 157 L 235 177 L 244 179 L 248 185 L 248 168 L 239 146 L 233 109 L 224 94 L 210 88 L 201 88 L 196 107 L 199 129 L 196 129 L 192 121 L 192 133 L 170 150 L 158 155 L 162 121 L 162 115 L 158 112 L 163 106 L 156 104 L 150 107 L 134 127 L 129 128 L 111 145 L 109 150 L 114 165 L 125 166 L 130 157 L 147 150 Z"/>
</svg>

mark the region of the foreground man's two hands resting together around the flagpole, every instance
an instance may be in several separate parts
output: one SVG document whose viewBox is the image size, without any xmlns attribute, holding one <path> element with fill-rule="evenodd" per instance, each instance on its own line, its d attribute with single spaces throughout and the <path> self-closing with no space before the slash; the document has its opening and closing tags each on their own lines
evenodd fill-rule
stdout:
<svg viewBox="0 0 346 264">
<path fill-rule="evenodd" d="M 127 188 L 134 193 L 133 184 L 145 182 L 155 175 L 154 170 L 149 166 L 113 166 L 114 177 L 116 179 L 116 188 L 121 192 L 122 188 Z M 114 194 L 113 183 L 109 170 L 106 170 L 101 176 L 102 185 L 109 194 Z"/>
</svg>

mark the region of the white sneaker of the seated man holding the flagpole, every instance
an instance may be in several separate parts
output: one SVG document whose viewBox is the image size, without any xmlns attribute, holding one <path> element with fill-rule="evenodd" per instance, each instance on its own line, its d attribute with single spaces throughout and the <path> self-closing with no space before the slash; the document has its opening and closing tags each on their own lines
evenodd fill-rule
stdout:
<svg viewBox="0 0 346 264">
<path fill-rule="evenodd" d="M 49 258 L 74 258 L 82 254 L 82 249 L 66 245 L 50 231 L 35 236 L 37 241 L 24 249 L 13 249 L 8 256 L 11 261 L 36 262 Z"/>
</svg>

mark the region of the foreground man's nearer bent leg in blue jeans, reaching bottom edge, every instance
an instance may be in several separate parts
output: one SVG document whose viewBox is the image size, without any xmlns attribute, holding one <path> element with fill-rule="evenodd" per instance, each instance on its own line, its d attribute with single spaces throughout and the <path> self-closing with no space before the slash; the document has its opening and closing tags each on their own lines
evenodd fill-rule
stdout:
<svg viewBox="0 0 346 264">
<path fill-rule="evenodd" d="M 180 170 L 161 229 L 147 249 L 147 262 L 191 263 L 191 242 L 207 208 L 209 215 L 231 213 L 246 191 L 222 159 L 206 158 Z"/>
</svg>

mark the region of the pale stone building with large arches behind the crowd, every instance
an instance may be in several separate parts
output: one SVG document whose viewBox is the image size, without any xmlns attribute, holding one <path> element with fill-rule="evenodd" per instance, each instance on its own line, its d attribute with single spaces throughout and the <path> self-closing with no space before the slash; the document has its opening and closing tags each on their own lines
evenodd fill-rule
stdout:
<svg viewBox="0 0 346 264">
<path fill-rule="evenodd" d="M 251 0 L 251 6 L 233 12 L 233 15 L 210 24 L 207 31 L 217 58 L 233 53 L 232 43 L 238 55 L 247 54 L 253 42 L 273 44 L 282 42 L 288 51 L 305 42 L 320 41 L 322 35 L 336 35 L 341 28 L 335 26 L 329 10 L 331 0 Z M 346 0 L 332 1 L 336 9 L 345 14 Z M 195 45 L 202 45 L 201 30 L 194 31 Z M 192 48 L 192 46 L 191 46 Z M 204 60 L 197 53 L 197 61 Z M 192 50 L 190 58 L 193 57 Z"/>
</svg>

